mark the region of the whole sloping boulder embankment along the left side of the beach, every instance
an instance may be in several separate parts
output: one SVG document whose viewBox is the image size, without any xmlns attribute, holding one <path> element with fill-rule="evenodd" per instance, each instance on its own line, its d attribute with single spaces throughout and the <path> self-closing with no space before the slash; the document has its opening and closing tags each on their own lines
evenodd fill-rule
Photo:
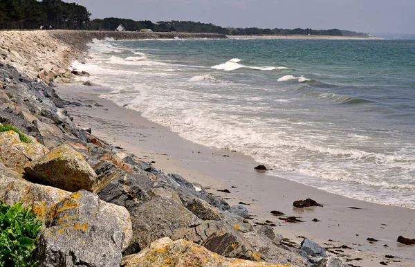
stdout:
<svg viewBox="0 0 415 267">
<path fill-rule="evenodd" d="M 17 44 L 22 58 L 32 56 L 21 71 L 48 56 L 68 66 L 87 39 L 69 48 L 64 32 L 21 34 L 15 45 L 2 46 L 6 59 L 16 56 Z M 26 50 L 39 35 L 53 38 L 48 53 Z M 80 103 L 59 98 L 52 82 L 32 77 L 0 63 L 0 124 L 30 139 L 0 133 L 0 200 L 32 206 L 44 223 L 39 266 L 346 266 L 308 239 L 301 248 L 284 245 L 269 225 L 254 227 L 243 218 L 249 218 L 243 207 L 230 207 L 202 185 L 160 172 L 77 128 L 65 107 Z"/>
</svg>

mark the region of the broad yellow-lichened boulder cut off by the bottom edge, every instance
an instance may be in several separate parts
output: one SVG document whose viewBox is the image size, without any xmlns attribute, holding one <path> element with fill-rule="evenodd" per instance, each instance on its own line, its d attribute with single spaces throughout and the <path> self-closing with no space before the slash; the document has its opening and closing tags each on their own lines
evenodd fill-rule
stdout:
<svg viewBox="0 0 415 267">
<path fill-rule="evenodd" d="M 159 239 L 151 243 L 150 248 L 142 252 L 124 257 L 124 267 L 295 267 L 295 265 L 268 264 L 266 262 L 248 261 L 243 259 L 231 259 L 217 255 L 202 246 L 179 239 L 172 241 L 169 238 Z"/>
</svg>

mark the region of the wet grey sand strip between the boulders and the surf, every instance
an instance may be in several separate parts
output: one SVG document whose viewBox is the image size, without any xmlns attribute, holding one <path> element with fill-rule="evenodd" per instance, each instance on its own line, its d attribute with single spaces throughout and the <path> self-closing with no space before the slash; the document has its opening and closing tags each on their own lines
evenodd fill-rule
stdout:
<svg viewBox="0 0 415 267">
<path fill-rule="evenodd" d="M 254 167 L 259 163 L 249 156 L 194 144 L 142 118 L 138 111 L 99 98 L 101 93 L 108 93 L 100 86 L 62 85 L 57 93 L 66 100 L 82 103 L 81 107 L 67 107 L 79 127 L 91 127 L 95 136 L 142 160 L 155 161 L 157 169 L 200 183 L 230 205 L 239 201 L 250 204 L 246 208 L 253 217 L 252 224 L 273 221 L 277 225 L 275 233 L 294 241 L 297 247 L 302 237 L 308 237 L 324 248 L 350 247 L 329 251 L 351 266 L 379 266 L 381 261 L 389 266 L 415 266 L 415 246 L 396 242 L 400 235 L 415 238 L 415 210 L 349 199 L 256 172 Z M 216 191 L 223 189 L 230 190 L 230 194 Z M 323 207 L 293 207 L 293 201 L 307 198 Z M 304 222 L 287 223 L 270 214 L 271 210 L 300 217 Z M 315 218 L 320 221 L 313 222 Z M 369 243 L 369 237 L 378 241 Z M 395 258 L 387 259 L 385 255 Z"/>
</svg>

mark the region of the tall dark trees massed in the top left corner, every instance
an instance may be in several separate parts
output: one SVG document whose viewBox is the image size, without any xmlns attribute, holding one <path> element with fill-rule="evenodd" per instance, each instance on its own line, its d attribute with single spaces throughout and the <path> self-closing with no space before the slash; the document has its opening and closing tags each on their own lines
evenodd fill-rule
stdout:
<svg viewBox="0 0 415 267">
<path fill-rule="evenodd" d="M 41 25 L 83 29 L 90 16 L 84 6 L 61 0 L 0 0 L 2 29 L 35 29 Z"/>
</svg>

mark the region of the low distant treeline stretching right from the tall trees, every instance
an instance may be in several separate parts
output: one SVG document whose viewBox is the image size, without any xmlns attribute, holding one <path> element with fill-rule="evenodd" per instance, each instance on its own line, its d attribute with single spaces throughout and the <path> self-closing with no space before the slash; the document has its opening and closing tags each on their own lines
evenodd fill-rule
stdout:
<svg viewBox="0 0 415 267">
<path fill-rule="evenodd" d="M 105 19 L 93 19 L 86 23 L 86 29 L 115 30 L 120 24 L 127 30 L 150 29 L 155 32 L 180 32 L 180 33 L 220 33 L 223 35 L 332 35 L 332 36 L 361 36 L 368 37 L 366 33 L 356 33 L 350 30 L 313 30 L 311 28 L 223 28 L 214 24 L 204 24 L 194 21 L 134 21 L 132 19 L 119 19 L 109 17 Z"/>
</svg>

